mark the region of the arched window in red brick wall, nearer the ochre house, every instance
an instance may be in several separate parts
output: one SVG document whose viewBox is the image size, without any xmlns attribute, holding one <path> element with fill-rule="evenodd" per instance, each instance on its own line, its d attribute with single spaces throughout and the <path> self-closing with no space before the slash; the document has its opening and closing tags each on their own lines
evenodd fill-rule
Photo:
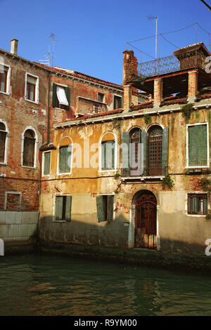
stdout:
<svg viewBox="0 0 211 330">
<path fill-rule="evenodd" d="M 32 129 L 27 129 L 23 140 L 23 166 L 34 167 L 35 134 Z"/>
</svg>

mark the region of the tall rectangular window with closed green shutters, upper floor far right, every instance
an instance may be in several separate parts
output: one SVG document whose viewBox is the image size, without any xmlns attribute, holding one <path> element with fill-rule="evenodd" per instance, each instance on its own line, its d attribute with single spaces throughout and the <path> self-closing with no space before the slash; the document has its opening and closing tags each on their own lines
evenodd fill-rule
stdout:
<svg viewBox="0 0 211 330">
<path fill-rule="evenodd" d="M 188 126 L 187 166 L 207 166 L 207 124 Z"/>
</svg>

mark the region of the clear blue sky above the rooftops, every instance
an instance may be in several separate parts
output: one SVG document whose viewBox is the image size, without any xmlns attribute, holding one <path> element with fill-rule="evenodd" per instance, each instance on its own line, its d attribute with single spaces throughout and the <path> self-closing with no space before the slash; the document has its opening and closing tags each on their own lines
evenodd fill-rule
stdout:
<svg viewBox="0 0 211 330">
<path fill-rule="evenodd" d="M 211 0 L 206 0 L 211 6 Z M 11 39 L 19 40 L 18 55 L 34 62 L 52 52 L 51 33 L 56 36 L 54 65 L 122 84 L 122 51 L 127 42 L 155 35 L 158 16 L 160 57 L 177 48 L 159 34 L 193 23 L 211 33 L 211 11 L 200 0 L 0 0 L 0 48 L 10 51 Z M 165 34 L 177 47 L 196 43 L 196 25 Z M 159 41 L 160 40 L 160 41 Z M 209 45 L 209 34 L 197 29 L 197 41 Z M 155 57 L 155 38 L 132 44 Z M 142 61 L 153 60 L 146 55 Z"/>
</svg>

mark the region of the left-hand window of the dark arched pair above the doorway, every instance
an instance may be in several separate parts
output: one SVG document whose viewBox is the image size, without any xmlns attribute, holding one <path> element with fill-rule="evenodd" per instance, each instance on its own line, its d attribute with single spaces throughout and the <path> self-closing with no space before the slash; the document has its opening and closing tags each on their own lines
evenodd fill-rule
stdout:
<svg viewBox="0 0 211 330">
<path fill-rule="evenodd" d="M 141 129 L 132 128 L 129 132 L 129 165 L 130 175 L 141 175 Z"/>
</svg>

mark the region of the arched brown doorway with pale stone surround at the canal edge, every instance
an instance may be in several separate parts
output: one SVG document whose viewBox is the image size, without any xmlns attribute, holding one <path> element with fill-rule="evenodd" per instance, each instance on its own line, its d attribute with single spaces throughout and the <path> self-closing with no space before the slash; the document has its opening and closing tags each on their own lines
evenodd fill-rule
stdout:
<svg viewBox="0 0 211 330">
<path fill-rule="evenodd" d="M 157 247 L 157 199 L 143 190 L 135 202 L 135 247 Z"/>
</svg>

